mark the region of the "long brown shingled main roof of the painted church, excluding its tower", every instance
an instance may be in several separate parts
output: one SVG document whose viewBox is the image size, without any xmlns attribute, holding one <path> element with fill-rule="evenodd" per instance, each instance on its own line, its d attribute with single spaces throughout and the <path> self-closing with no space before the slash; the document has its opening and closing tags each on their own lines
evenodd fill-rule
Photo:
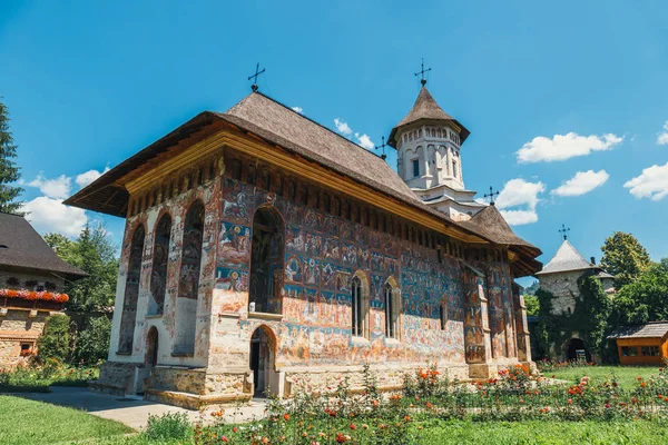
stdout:
<svg viewBox="0 0 668 445">
<path fill-rule="evenodd" d="M 125 217 L 129 197 L 120 184 L 124 176 L 160 154 L 185 150 L 195 141 L 220 130 L 223 128 L 220 122 L 233 125 L 274 146 L 350 177 L 379 192 L 435 216 L 450 226 L 459 227 L 465 234 L 492 240 L 485 235 L 489 230 L 484 227 L 453 221 L 444 214 L 426 206 L 380 156 L 259 92 L 248 95 L 224 113 L 205 111 L 197 115 L 169 135 L 107 171 L 68 198 L 65 204 Z M 525 241 L 522 243 L 528 245 Z M 540 250 L 538 253 L 540 254 Z M 540 269 L 540 263 L 538 265 Z M 531 274 L 538 269 L 533 269 Z"/>
</svg>

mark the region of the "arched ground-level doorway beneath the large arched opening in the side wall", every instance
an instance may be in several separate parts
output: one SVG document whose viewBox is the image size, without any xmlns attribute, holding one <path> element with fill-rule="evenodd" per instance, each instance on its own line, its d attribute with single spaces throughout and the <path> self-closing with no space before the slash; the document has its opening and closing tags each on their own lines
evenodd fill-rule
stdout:
<svg viewBox="0 0 668 445">
<path fill-rule="evenodd" d="M 276 337 L 269 328 L 261 326 L 250 337 L 250 369 L 253 370 L 253 396 L 278 394 L 278 374 L 275 365 Z"/>
</svg>

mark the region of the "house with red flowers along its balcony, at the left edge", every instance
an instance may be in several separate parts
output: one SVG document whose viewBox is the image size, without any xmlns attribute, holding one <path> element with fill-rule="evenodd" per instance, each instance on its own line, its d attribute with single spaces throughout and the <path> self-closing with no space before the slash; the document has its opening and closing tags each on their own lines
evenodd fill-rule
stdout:
<svg viewBox="0 0 668 445">
<path fill-rule="evenodd" d="M 68 300 L 66 280 L 85 276 L 60 259 L 26 218 L 0 212 L 0 367 L 37 353 L 47 317 Z"/>
</svg>

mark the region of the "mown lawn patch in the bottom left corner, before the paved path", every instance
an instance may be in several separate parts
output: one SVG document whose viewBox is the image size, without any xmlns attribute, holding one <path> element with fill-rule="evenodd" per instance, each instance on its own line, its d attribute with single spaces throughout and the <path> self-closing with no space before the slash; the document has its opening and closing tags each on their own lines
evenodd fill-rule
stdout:
<svg viewBox="0 0 668 445">
<path fill-rule="evenodd" d="M 0 396 L 0 444 L 32 445 L 104 439 L 132 433 L 118 422 L 82 411 Z"/>
</svg>

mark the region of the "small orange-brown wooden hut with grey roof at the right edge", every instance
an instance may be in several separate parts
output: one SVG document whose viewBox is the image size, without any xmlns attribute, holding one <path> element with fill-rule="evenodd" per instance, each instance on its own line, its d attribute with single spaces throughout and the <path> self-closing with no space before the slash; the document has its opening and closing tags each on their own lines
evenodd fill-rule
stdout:
<svg viewBox="0 0 668 445">
<path fill-rule="evenodd" d="M 662 365 L 668 359 L 668 322 L 621 326 L 608 338 L 617 340 L 621 365 Z"/>
</svg>

